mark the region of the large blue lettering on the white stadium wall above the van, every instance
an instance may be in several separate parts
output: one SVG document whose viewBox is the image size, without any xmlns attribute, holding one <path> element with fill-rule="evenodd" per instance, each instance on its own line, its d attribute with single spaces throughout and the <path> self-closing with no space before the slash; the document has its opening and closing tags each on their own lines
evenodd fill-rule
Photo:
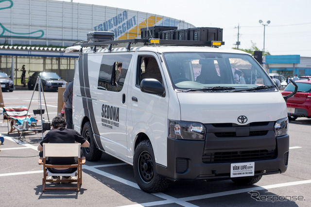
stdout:
<svg viewBox="0 0 311 207">
<path fill-rule="evenodd" d="M 96 25 L 94 31 L 111 31 L 115 32 L 115 37 L 120 36 L 122 33 L 127 32 L 129 29 L 136 26 L 136 16 L 128 19 L 127 11 L 119 13 L 103 23 Z"/>
</svg>

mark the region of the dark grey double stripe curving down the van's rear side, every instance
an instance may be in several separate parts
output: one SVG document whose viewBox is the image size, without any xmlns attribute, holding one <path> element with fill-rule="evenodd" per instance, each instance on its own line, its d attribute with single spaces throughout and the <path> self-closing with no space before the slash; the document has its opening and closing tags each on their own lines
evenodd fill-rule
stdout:
<svg viewBox="0 0 311 207">
<path fill-rule="evenodd" d="M 91 93 L 89 90 L 87 57 L 88 57 L 87 54 L 83 55 L 83 63 L 82 63 L 83 67 L 80 67 L 80 63 L 79 63 L 79 78 L 80 78 L 80 85 L 81 85 L 80 90 L 81 90 L 81 95 L 83 96 L 82 104 L 83 104 L 85 114 L 88 114 L 88 117 L 90 119 L 91 126 L 92 126 L 93 133 L 94 133 L 95 142 L 100 149 L 104 149 L 101 143 L 100 136 L 97 136 L 99 135 L 99 130 L 96 125 L 95 113 L 93 109 Z"/>
</svg>

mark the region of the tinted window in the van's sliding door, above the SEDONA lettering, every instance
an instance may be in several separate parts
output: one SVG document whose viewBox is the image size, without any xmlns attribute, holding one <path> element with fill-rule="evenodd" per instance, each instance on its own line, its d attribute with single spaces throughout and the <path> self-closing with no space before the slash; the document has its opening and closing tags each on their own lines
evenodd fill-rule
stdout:
<svg viewBox="0 0 311 207">
<path fill-rule="evenodd" d="M 97 89 L 120 92 L 131 59 L 132 55 L 104 55 L 98 75 Z"/>
</svg>

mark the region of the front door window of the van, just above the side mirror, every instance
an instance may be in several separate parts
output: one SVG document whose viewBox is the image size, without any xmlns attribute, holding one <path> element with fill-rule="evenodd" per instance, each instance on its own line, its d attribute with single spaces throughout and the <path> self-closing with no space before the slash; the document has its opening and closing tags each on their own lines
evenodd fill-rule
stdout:
<svg viewBox="0 0 311 207">
<path fill-rule="evenodd" d="M 154 57 L 139 57 L 137 84 L 139 85 L 141 80 L 147 78 L 156 79 L 162 82 L 162 75 L 159 65 L 157 64 Z"/>
</svg>

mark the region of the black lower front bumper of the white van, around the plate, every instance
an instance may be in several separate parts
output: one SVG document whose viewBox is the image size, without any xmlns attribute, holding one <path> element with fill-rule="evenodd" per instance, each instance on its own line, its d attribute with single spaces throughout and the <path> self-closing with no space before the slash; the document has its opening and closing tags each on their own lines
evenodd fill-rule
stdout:
<svg viewBox="0 0 311 207">
<path fill-rule="evenodd" d="M 173 180 L 230 179 L 231 163 L 251 161 L 245 160 L 234 162 L 204 163 L 202 161 L 204 147 L 205 141 L 176 140 L 168 138 L 168 166 L 164 167 L 157 164 L 157 173 Z M 277 137 L 276 158 L 255 160 L 255 176 L 284 173 L 287 170 L 287 166 L 284 164 L 284 153 L 288 151 L 289 135 Z M 185 170 L 185 172 L 177 173 L 177 159 L 187 159 L 187 170 Z"/>
</svg>

